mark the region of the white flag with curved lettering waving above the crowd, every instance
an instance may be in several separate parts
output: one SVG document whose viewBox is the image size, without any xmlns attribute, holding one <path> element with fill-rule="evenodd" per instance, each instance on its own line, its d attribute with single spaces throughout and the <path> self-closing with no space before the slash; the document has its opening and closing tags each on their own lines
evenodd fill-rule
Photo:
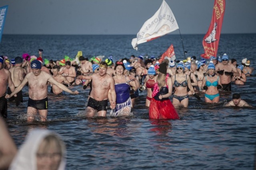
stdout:
<svg viewBox="0 0 256 170">
<path fill-rule="evenodd" d="M 179 29 L 171 8 L 163 0 L 157 12 L 148 19 L 137 34 L 137 38 L 132 39 L 132 47 L 138 50 L 137 45 L 164 36 Z"/>
</svg>

